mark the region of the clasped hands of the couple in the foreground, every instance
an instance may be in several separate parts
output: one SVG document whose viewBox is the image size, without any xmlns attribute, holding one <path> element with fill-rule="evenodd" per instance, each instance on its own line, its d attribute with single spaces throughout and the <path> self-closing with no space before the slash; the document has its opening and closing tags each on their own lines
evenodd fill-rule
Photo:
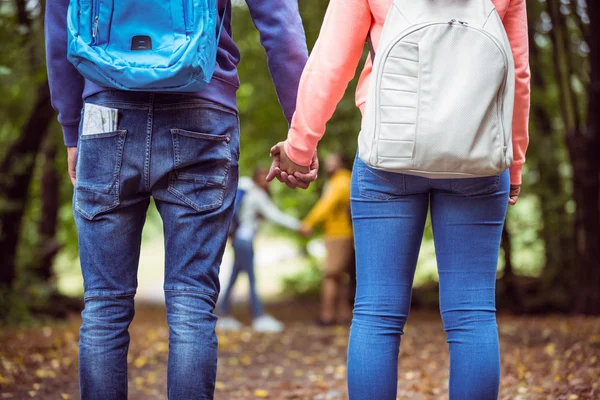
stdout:
<svg viewBox="0 0 600 400">
<path fill-rule="evenodd" d="M 279 142 L 271 148 L 271 157 L 273 163 L 267 175 L 269 182 L 277 178 L 291 189 L 306 189 L 317 179 L 319 158 L 316 151 L 309 166 L 298 165 L 290 160 L 285 152 L 284 142 Z"/>
</svg>

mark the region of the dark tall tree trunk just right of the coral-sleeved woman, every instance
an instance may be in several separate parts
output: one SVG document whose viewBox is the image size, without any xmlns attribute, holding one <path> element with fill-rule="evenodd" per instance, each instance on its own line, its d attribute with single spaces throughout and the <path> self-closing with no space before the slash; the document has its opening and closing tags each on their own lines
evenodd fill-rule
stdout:
<svg viewBox="0 0 600 400">
<path fill-rule="evenodd" d="M 539 198 L 542 229 L 540 238 L 544 243 L 545 263 L 541 273 L 539 292 L 527 301 L 528 309 L 535 310 L 568 310 L 572 307 L 569 296 L 573 282 L 574 240 L 572 218 L 565 210 L 565 203 L 570 199 L 565 183 L 560 174 L 562 158 L 557 150 L 557 142 L 564 140 L 564 134 L 552 125 L 552 120 L 559 109 L 553 109 L 542 99 L 550 92 L 552 79 L 548 79 L 545 67 L 548 60 L 545 53 L 535 41 L 535 27 L 539 25 L 542 6 L 538 2 L 528 2 L 531 87 L 538 96 L 531 104 L 531 147 L 536 149 L 531 154 L 529 163 L 539 174 L 534 190 Z"/>
</svg>

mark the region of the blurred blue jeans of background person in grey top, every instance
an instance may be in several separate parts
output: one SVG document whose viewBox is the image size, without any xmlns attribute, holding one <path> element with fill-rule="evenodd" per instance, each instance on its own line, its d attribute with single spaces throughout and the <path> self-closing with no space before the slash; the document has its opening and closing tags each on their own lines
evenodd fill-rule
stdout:
<svg viewBox="0 0 600 400">
<path fill-rule="evenodd" d="M 223 295 L 220 311 L 223 315 L 229 314 L 231 309 L 231 292 L 237 281 L 240 272 L 244 271 L 248 275 L 250 282 L 250 309 L 252 317 L 257 318 L 263 315 L 263 307 L 256 291 L 256 278 L 254 277 L 254 244 L 252 240 L 240 239 L 237 236 L 233 239 L 234 261 L 231 270 L 231 277 L 227 284 L 227 289 Z"/>
</svg>

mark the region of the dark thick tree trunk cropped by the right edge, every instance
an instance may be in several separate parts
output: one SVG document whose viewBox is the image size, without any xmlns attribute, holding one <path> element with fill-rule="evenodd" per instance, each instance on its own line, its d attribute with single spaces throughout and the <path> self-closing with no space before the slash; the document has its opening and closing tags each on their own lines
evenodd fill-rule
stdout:
<svg viewBox="0 0 600 400">
<path fill-rule="evenodd" d="M 600 4 L 588 2 L 590 32 L 600 29 Z M 567 138 L 573 165 L 577 252 L 576 312 L 600 314 L 600 37 L 590 35 L 588 123 Z"/>
</svg>

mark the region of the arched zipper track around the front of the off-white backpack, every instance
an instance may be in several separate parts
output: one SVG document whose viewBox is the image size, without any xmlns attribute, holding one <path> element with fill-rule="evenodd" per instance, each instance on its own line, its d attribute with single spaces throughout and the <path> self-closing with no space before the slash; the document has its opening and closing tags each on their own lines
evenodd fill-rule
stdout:
<svg viewBox="0 0 600 400">
<path fill-rule="evenodd" d="M 487 31 L 484 31 L 483 29 L 480 28 L 475 28 L 473 26 L 470 26 L 468 22 L 465 21 L 457 21 L 456 19 L 451 19 L 448 22 L 424 22 L 418 25 L 413 26 L 412 28 L 409 28 L 408 31 L 402 31 L 400 32 L 400 34 L 398 36 L 396 36 L 396 38 L 394 38 L 394 40 L 392 40 L 390 42 L 390 44 L 388 45 L 388 47 L 386 47 L 383 51 L 383 57 L 380 57 L 379 60 L 387 60 L 390 52 L 392 51 L 392 48 L 398 43 L 400 42 L 402 39 L 404 39 L 406 36 L 415 33 L 416 31 L 419 31 L 421 29 L 424 28 L 428 28 L 430 26 L 433 25 L 444 25 L 444 24 L 449 24 L 449 25 L 454 25 L 456 22 L 460 23 L 461 26 L 465 27 L 465 28 L 469 28 L 469 29 L 474 29 L 480 33 L 483 33 L 485 36 L 487 36 L 488 38 L 490 38 L 492 40 L 492 42 L 496 45 L 496 47 L 498 48 L 498 50 L 500 50 L 500 54 L 502 54 L 502 58 L 504 59 L 504 69 L 505 71 L 508 73 L 508 55 L 506 54 L 506 51 L 502 48 L 502 44 L 500 43 L 500 41 L 493 36 L 492 34 L 490 34 Z M 383 61 L 380 61 L 379 63 L 382 63 Z M 500 107 L 502 109 L 504 109 L 504 97 L 505 97 L 505 92 L 506 92 L 506 79 L 507 79 L 507 73 L 504 74 L 504 79 L 502 80 L 502 85 L 500 87 L 500 92 L 498 93 L 498 96 L 502 96 L 501 97 L 501 101 L 500 101 Z M 378 74 L 377 74 L 377 81 L 376 81 L 376 93 L 377 93 L 377 98 L 376 98 L 376 103 L 375 103 L 375 107 L 376 110 L 379 110 L 380 106 L 379 106 L 379 92 L 381 91 L 381 78 L 383 75 L 383 68 L 379 68 Z M 379 119 L 379 113 L 376 112 L 375 114 L 375 126 L 373 128 L 373 132 L 374 132 L 374 139 L 377 139 L 377 120 Z M 502 127 L 502 142 L 504 143 L 504 148 L 506 149 L 506 147 L 508 146 L 508 144 L 506 143 L 506 131 L 504 128 L 504 119 L 503 118 L 498 118 L 500 120 L 500 125 Z"/>
</svg>

